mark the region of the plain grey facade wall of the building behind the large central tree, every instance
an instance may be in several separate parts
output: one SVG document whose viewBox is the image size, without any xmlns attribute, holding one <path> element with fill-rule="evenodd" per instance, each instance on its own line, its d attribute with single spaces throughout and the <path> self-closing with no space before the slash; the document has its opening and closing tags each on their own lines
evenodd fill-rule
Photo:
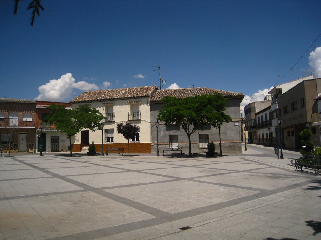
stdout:
<svg viewBox="0 0 321 240">
<path fill-rule="evenodd" d="M 156 152 L 157 139 L 156 126 L 154 123 L 163 105 L 162 103 L 151 103 L 152 152 Z M 229 114 L 234 120 L 221 125 L 222 153 L 241 152 L 240 100 L 228 100 L 225 113 Z M 215 143 L 216 151 L 219 152 L 219 129 L 211 126 L 209 130 L 196 130 L 196 132 L 191 135 L 191 149 L 193 153 L 207 152 L 206 148 L 199 148 L 199 134 L 209 134 L 209 141 Z M 167 131 L 166 126 L 162 123 L 160 123 L 158 127 L 160 153 L 162 149 L 169 148 L 169 135 L 178 135 L 179 147 L 182 148 L 182 152 L 188 153 L 188 137 L 186 132 L 183 129 Z"/>
</svg>

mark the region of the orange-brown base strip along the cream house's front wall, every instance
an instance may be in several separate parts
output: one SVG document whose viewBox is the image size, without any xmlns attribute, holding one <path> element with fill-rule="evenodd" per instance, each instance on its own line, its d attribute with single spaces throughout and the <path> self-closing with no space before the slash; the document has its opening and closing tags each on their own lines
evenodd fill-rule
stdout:
<svg viewBox="0 0 321 240">
<path fill-rule="evenodd" d="M 101 144 L 95 144 L 96 152 L 101 153 Z M 104 152 L 107 148 L 124 148 L 124 153 L 128 153 L 128 144 L 127 143 L 108 143 L 104 144 Z M 72 148 L 73 152 L 80 152 L 80 144 L 74 144 Z M 151 143 L 129 143 L 129 152 L 130 153 L 151 153 Z"/>
</svg>

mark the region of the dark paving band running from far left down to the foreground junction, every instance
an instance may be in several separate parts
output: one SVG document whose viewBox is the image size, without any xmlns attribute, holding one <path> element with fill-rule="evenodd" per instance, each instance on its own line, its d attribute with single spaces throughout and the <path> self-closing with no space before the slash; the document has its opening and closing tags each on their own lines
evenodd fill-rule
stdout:
<svg viewBox="0 0 321 240">
<path fill-rule="evenodd" d="M 40 168 L 40 167 L 38 167 L 36 165 L 24 163 L 22 160 L 16 159 L 16 161 L 18 161 L 20 163 L 23 163 L 23 164 L 26 164 L 27 166 L 33 167 L 33 168 L 35 168 L 35 169 L 37 169 L 37 170 L 39 170 L 41 172 L 47 173 L 48 175 L 56 177 L 56 178 L 58 178 L 60 180 L 63 180 L 63 181 L 68 182 L 70 184 L 73 184 L 73 185 L 75 185 L 77 187 L 83 188 L 83 189 L 85 189 L 87 191 L 91 191 L 91 192 L 96 193 L 96 194 L 98 194 L 100 196 L 107 197 L 108 199 L 114 200 L 114 201 L 116 201 L 118 203 L 121 203 L 121 204 L 125 204 L 125 205 L 127 205 L 129 207 L 132 207 L 132 208 L 135 208 L 135 209 L 140 210 L 142 212 L 151 214 L 151 215 L 153 215 L 155 217 L 163 218 L 166 215 L 168 215 L 168 212 L 165 212 L 165 211 L 162 211 L 162 210 L 159 210 L 159 209 L 156 209 L 156 208 L 153 208 L 153 207 L 150 207 L 150 206 L 135 202 L 135 201 L 127 199 L 125 197 L 121 197 L 121 196 L 117 196 L 117 195 L 112 194 L 112 193 L 108 193 L 108 192 L 106 192 L 104 190 L 101 190 L 99 188 L 95 188 L 95 187 L 89 186 L 89 185 L 87 185 L 85 183 L 82 183 L 82 182 L 79 182 L 79 181 L 76 181 L 76 180 L 61 176 L 61 175 L 56 174 L 54 172 L 50 172 L 50 171 L 48 171 L 46 169 L 42 169 L 42 168 Z"/>
</svg>

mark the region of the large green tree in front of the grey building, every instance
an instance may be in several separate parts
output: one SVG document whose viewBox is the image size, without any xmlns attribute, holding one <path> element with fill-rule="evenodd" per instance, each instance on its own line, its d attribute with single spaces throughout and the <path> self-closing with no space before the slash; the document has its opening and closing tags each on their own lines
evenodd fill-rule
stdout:
<svg viewBox="0 0 321 240">
<path fill-rule="evenodd" d="M 226 98 L 220 93 L 196 95 L 187 98 L 165 96 L 158 120 L 165 125 L 180 125 L 188 137 L 189 156 L 191 152 L 191 135 L 196 129 L 203 130 L 205 124 L 216 129 L 220 122 L 230 122 L 230 115 L 224 113 Z"/>
</svg>

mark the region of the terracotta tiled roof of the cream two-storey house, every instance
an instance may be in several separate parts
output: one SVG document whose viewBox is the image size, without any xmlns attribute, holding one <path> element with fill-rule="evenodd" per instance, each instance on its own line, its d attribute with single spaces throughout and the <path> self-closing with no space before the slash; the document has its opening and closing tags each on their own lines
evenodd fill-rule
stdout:
<svg viewBox="0 0 321 240">
<path fill-rule="evenodd" d="M 145 86 L 145 87 L 131 87 L 131 88 L 118 88 L 98 91 L 87 91 L 80 94 L 71 100 L 74 102 L 87 102 L 97 100 L 112 100 L 112 99 L 124 99 L 124 98 L 137 98 L 149 96 L 157 86 Z"/>
</svg>

